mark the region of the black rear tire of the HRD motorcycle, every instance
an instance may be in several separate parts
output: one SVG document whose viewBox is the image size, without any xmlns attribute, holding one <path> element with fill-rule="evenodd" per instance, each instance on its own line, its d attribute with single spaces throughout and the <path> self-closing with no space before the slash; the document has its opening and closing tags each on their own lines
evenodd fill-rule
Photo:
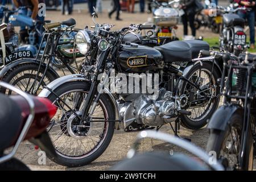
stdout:
<svg viewBox="0 0 256 182">
<path fill-rule="evenodd" d="M 193 75 L 193 73 L 195 73 L 199 69 L 200 69 L 200 64 L 196 64 L 187 73 L 186 78 L 189 79 L 189 77 L 191 77 Z M 201 67 L 201 69 L 205 69 L 205 70 L 210 72 L 212 70 L 212 63 L 204 61 L 203 62 L 203 67 Z M 216 67 L 216 65 L 214 65 L 214 67 L 213 67 L 213 74 L 212 74 L 212 76 L 213 76 L 215 82 L 217 81 L 218 78 L 221 77 L 221 73 L 218 70 L 218 68 Z M 181 93 L 184 93 L 186 85 L 187 85 L 187 83 L 184 82 L 184 84 L 182 86 L 182 89 L 181 89 Z M 216 96 L 219 93 L 220 93 L 220 87 L 217 86 L 217 88 L 216 88 Z M 192 119 L 188 118 L 189 117 L 188 115 L 181 114 L 181 126 L 187 128 L 187 129 L 191 129 L 191 130 L 198 130 L 198 129 L 201 129 L 201 127 L 204 127 L 205 125 L 207 125 L 207 120 L 210 119 L 210 117 L 212 117 L 212 114 L 214 113 L 214 111 L 218 107 L 218 104 L 220 102 L 220 97 L 215 98 L 213 102 L 214 102 L 213 106 L 210 109 L 210 111 L 207 114 L 207 116 L 205 116 L 204 118 L 200 119 L 200 121 L 193 121 Z"/>
</svg>

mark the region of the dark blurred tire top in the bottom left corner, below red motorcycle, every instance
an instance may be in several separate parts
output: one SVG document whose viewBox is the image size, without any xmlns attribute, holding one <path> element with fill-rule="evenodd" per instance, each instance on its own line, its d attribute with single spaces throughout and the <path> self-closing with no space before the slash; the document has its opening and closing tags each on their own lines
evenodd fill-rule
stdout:
<svg viewBox="0 0 256 182">
<path fill-rule="evenodd" d="M 20 160 L 13 158 L 7 162 L 1 163 L 0 171 L 30 171 L 30 168 L 20 162 Z"/>
</svg>

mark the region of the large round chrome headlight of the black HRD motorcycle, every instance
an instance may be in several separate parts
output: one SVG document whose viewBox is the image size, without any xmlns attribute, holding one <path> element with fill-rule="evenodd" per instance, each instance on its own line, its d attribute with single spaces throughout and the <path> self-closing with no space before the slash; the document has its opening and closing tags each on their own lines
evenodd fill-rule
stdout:
<svg viewBox="0 0 256 182">
<path fill-rule="evenodd" d="M 81 30 L 76 34 L 76 45 L 83 55 L 88 52 L 90 48 L 90 36 L 86 31 Z"/>
</svg>

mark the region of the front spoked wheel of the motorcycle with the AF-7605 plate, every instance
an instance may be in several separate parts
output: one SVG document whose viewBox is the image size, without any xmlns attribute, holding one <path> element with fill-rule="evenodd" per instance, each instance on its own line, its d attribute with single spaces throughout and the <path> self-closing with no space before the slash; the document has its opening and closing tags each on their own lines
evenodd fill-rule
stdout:
<svg viewBox="0 0 256 182">
<path fill-rule="evenodd" d="M 43 89 L 43 86 L 56 79 L 55 76 L 47 72 L 42 83 L 39 85 L 43 73 L 44 69 L 40 69 L 38 72 L 38 65 L 36 64 L 22 64 L 12 69 L 12 71 L 7 72 L 2 81 L 14 85 L 16 88 L 23 90 L 24 92 L 38 95 Z M 13 93 L 11 90 L 6 88 L 1 88 L 1 92 L 9 95 Z"/>
</svg>

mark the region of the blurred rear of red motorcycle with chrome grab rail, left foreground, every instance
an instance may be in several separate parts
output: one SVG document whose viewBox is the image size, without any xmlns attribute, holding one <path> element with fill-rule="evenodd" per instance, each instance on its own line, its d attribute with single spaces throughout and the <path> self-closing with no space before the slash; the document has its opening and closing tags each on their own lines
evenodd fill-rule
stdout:
<svg viewBox="0 0 256 182">
<path fill-rule="evenodd" d="M 45 98 L 29 96 L 21 90 L 0 82 L 0 86 L 9 88 L 18 96 L 0 94 L 0 170 L 27 171 L 29 168 L 14 158 L 23 140 L 39 146 L 43 151 L 56 156 L 46 128 L 56 113 L 56 107 Z M 7 148 L 13 147 L 10 152 Z"/>
</svg>

